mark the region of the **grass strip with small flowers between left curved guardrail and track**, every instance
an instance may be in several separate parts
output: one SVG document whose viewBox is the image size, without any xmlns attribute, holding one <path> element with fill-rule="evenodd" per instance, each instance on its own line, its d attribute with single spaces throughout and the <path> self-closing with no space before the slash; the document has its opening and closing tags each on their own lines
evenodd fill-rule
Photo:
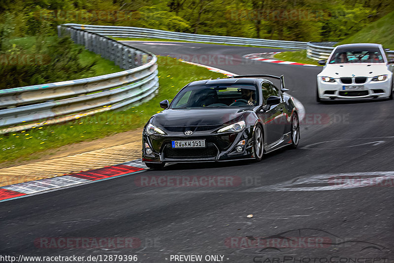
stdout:
<svg viewBox="0 0 394 263">
<path fill-rule="evenodd" d="M 158 64 L 159 93 L 149 102 L 125 111 L 99 113 L 64 124 L 0 135 L 0 162 L 34 159 L 40 157 L 39 152 L 42 150 L 91 141 L 141 127 L 151 115 L 162 110 L 160 101 L 171 100 L 187 83 L 224 76 L 169 57 L 158 57 Z"/>
</svg>

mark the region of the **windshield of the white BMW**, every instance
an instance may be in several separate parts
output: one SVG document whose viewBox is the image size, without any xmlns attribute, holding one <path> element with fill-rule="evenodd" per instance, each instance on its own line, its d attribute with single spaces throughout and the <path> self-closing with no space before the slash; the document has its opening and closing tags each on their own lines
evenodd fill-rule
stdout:
<svg viewBox="0 0 394 263">
<path fill-rule="evenodd" d="M 382 63 L 378 48 L 340 48 L 331 57 L 329 64 L 339 63 Z"/>
</svg>

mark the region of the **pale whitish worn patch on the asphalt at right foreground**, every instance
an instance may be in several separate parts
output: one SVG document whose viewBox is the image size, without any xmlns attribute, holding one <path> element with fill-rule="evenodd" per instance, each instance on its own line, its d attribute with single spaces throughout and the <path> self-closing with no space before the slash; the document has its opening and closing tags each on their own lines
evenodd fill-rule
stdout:
<svg viewBox="0 0 394 263">
<path fill-rule="evenodd" d="M 243 192 L 327 191 L 361 187 L 394 187 L 394 171 L 311 175 Z"/>
</svg>

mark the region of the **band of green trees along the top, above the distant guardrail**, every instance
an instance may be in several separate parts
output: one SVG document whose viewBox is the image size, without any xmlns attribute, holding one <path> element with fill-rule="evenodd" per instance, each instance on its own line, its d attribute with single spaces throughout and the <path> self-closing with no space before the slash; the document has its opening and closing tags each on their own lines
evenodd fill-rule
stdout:
<svg viewBox="0 0 394 263">
<path fill-rule="evenodd" d="M 14 0 L 0 36 L 56 34 L 63 23 L 299 41 L 341 40 L 394 10 L 393 0 Z M 111 12 L 124 12 L 120 16 Z M 296 15 L 294 15 L 296 14 Z M 11 19 L 10 19 L 11 18 Z M 12 20 L 12 21 L 11 21 Z"/>
</svg>

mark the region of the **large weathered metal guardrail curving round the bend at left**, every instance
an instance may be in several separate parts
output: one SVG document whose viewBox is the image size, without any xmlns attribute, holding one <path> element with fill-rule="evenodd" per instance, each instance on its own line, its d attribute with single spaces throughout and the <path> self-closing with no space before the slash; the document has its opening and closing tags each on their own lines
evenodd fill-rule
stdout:
<svg viewBox="0 0 394 263">
<path fill-rule="evenodd" d="M 69 35 L 126 71 L 0 90 L 0 134 L 119 109 L 154 96 L 159 87 L 154 54 L 65 25 L 58 27 L 58 34 Z"/>
</svg>

